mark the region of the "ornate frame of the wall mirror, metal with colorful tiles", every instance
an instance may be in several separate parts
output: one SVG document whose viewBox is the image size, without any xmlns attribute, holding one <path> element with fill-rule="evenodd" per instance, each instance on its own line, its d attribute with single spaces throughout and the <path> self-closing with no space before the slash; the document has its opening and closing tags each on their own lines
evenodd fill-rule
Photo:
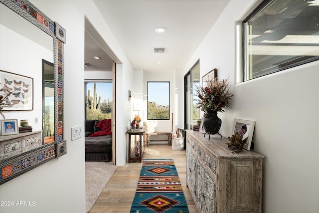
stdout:
<svg viewBox="0 0 319 213">
<path fill-rule="evenodd" d="M 41 145 L 35 149 L 23 152 L 21 154 L 8 157 L 0 160 L 0 174 L 2 171 L 6 172 L 6 176 L 3 178 L 0 175 L 0 185 L 16 178 L 48 161 L 51 161 L 57 157 L 60 157 L 66 153 L 66 141 L 64 140 L 64 106 L 63 106 L 63 81 L 64 81 L 64 41 L 60 40 L 56 33 L 55 29 L 58 23 L 49 19 L 45 14 L 43 14 L 38 8 L 36 8 L 31 2 L 28 0 L 23 0 L 25 4 L 27 4 L 31 9 L 43 16 L 49 23 L 48 26 L 39 22 L 36 18 L 34 18 L 31 14 L 26 12 L 21 5 L 17 5 L 14 0 L 0 0 L 0 3 L 4 4 L 18 15 L 22 16 L 30 23 L 34 24 L 48 35 L 53 37 L 53 55 L 54 55 L 54 142 Z M 33 12 L 32 11 L 32 12 Z M 65 35 L 65 31 L 64 31 Z M 59 149 L 58 149 L 59 148 Z M 39 156 L 42 156 L 40 159 Z M 14 165 L 18 163 L 23 163 L 25 160 L 29 160 L 31 158 L 36 158 L 34 164 L 21 169 L 18 172 L 13 172 L 12 168 Z M 11 169 L 11 172 L 10 172 Z"/>
</svg>

